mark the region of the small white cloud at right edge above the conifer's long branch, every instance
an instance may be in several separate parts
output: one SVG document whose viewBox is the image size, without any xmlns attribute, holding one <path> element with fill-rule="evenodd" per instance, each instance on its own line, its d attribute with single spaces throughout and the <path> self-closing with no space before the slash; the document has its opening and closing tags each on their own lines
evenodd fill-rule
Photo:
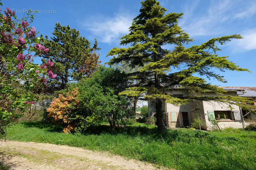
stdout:
<svg viewBox="0 0 256 170">
<path fill-rule="evenodd" d="M 256 49 L 256 28 L 247 30 L 241 35 L 244 39 L 233 40 L 227 45 L 232 48 L 234 52 L 244 52 Z"/>
</svg>

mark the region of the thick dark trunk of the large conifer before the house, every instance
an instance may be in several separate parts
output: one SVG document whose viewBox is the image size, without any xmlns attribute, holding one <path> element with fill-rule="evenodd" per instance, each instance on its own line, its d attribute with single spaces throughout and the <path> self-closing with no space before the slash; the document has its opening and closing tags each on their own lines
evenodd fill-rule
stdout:
<svg viewBox="0 0 256 170">
<path fill-rule="evenodd" d="M 164 112 L 162 109 L 162 100 L 156 99 L 156 125 L 157 131 L 165 132 L 165 125 L 164 125 Z"/>
</svg>

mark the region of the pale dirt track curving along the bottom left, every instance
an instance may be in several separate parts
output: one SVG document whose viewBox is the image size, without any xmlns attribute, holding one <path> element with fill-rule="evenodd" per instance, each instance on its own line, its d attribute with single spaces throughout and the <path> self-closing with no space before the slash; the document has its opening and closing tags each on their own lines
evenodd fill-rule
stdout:
<svg viewBox="0 0 256 170">
<path fill-rule="evenodd" d="M 0 144 L 0 162 L 10 169 L 159 169 L 108 152 L 93 152 L 65 145 L 7 141 Z M 161 168 L 163 169 L 163 168 Z"/>
</svg>

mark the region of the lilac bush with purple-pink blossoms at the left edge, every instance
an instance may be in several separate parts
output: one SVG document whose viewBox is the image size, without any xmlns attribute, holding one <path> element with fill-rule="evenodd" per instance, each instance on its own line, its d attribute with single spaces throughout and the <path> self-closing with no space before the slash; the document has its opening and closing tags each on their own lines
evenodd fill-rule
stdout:
<svg viewBox="0 0 256 170">
<path fill-rule="evenodd" d="M 21 19 L 10 9 L 4 13 L 0 13 L 0 140 L 5 138 L 6 127 L 22 116 L 28 102 L 34 102 L 33 91 L 42 89 L 46 69 L 39 69 L 33 59 L 38 56 L 35 51 L 47 52 L 35 48 L 40 38 L 35 27 L 29 26 L 34 19 L 31 10 Z"/>
</svg>

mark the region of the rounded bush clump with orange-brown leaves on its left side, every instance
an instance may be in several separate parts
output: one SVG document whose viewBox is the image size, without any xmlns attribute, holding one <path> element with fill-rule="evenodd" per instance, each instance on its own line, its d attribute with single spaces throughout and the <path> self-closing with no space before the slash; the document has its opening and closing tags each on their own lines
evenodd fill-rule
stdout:
<svg viewBox="0 0 256 170">
<path fill-rule="evenodd" d="M 64 132 L 84 132 L 100 120 L 110 128 L 124 126 L 133 116 L 131 101 L 118 95 L 127 86 L 126 74 L 113 68 L 100 67 L 89 78 L 71 84 L 53 99 L 47 111 L 53 122 L 64 125 Z M 74 90 L 77 90 L 76 92 Z M 75 92 L 75 93 L 74 93 Z"/>
</svg>

